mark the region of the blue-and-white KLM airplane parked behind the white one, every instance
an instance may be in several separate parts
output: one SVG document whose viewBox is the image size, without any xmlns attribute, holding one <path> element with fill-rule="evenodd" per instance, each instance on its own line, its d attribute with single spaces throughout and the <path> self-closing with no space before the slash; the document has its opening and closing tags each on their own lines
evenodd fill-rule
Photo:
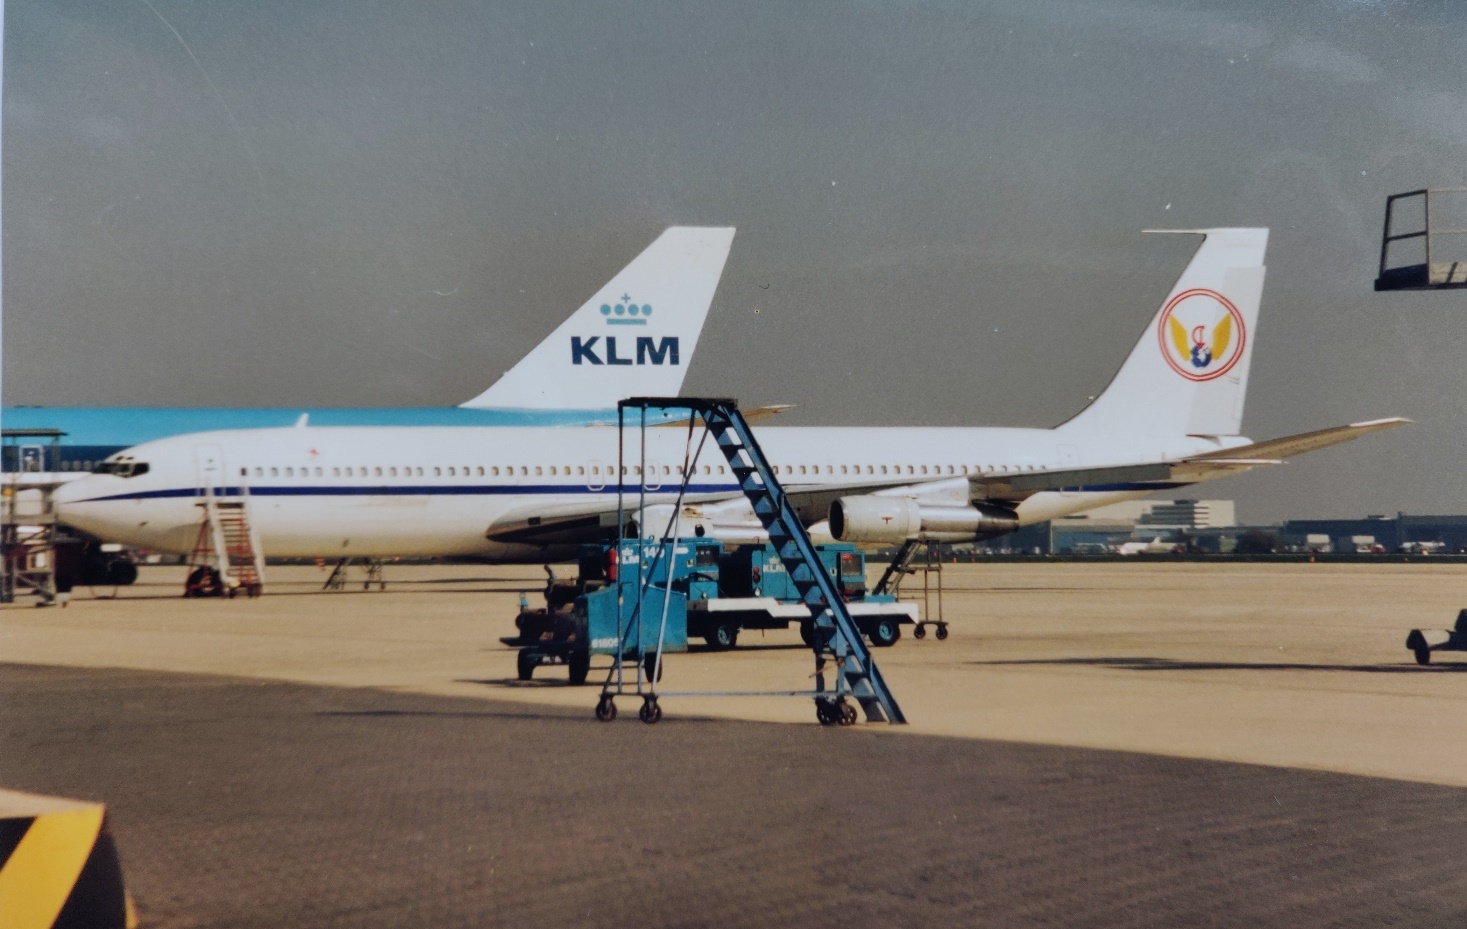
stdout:
<svg viewBox="0 0 1467 929">
<path fill-rule="evenodd" d="M 213 429 L 315 426 L 585 426 L 615 423 L 616 399 L 676 393 L 734 242 L 732 227 L 670 226 L 534 351 L 458 407 L 147 408 L 6 407 L 6 430 L 59 430 L 16 440 L 0 468 L 66 481 L 126 448 Z M 618 342 L 619 339 L 619 342 Z"/>
</svg>

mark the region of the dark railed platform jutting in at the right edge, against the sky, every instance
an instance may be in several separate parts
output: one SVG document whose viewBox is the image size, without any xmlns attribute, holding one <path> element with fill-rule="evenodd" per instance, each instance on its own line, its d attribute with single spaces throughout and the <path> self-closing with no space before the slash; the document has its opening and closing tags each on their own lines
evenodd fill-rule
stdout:
<svg viewBox="0 0 1467 929">
<path fill-rule="evenodd" d="M 1385 201 L 1376 291 L 1467 288 L 1467 188 L 1422 188 Z"/>
</svg>

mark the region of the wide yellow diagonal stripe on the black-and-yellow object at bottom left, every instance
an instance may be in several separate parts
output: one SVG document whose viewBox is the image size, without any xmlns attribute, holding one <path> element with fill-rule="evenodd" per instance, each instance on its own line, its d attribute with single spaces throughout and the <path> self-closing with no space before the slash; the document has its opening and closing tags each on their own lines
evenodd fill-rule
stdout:
<svg viewBox="0 0 1467 929">
<path fill-rule="evenodd" d="M 38 816 L 0 869 L 4 929 L 50 929 L 101 832 L 103 807 Z"/>
</svg>

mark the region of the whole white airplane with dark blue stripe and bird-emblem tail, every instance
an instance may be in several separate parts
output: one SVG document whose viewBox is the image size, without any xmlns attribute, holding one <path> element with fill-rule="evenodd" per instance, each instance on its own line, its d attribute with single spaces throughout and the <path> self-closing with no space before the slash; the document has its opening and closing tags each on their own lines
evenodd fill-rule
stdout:
<svg viewBox="0 0 1467 929">
<path fill-rule="evenodd" d="M 1111 385 L 1053 429 L 760 427 L 813 534 L 974 542 L 1156 490 L 1282 464 L 1408 423 L 1373 420 L 1253 442 L 1240 434 L 1257 342 L 1267 229 L 1193 229 L 1197 252 Z M 175 436 L 62 489 L 63 518 L 100 537 L 188 552 L 202 484 L 248 492 L 267 556 L 571 558 L 618 533 L 618 489 L 650 508 L 634 531 L 754 540 L 716 448 L 645 429 L 618 465 L 616 427 L 320 427 Z M 635 434 L 635 433 L 632 433 Z M 625 474 L 618 474 L 621 467 Z"/>
</svg>

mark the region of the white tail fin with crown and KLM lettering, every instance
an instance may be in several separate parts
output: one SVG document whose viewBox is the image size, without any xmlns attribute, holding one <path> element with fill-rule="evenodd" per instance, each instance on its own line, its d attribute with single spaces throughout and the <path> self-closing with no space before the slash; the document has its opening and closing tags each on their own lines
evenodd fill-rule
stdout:
<svg viewBox="0 0 1467 929">
<path fill-rule="evenodd" d="M 628 396 L 676 396 L 732 244 L 731 227 L 669 227 L 494 386 L 462 405 L 601 409 Z"/>
</svg>

